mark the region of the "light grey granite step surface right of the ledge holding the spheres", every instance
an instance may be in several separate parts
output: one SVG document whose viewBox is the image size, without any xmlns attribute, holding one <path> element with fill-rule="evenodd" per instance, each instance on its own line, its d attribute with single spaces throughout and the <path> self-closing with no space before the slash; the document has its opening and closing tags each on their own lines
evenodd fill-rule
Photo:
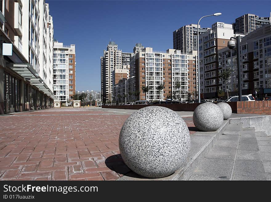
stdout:
<svg viewBox="0 0 271 202">
<path fill-rule="evenodd" d="M 189 180 L 266 180 L 254 128 L 229 124 Z"/>
</svg>

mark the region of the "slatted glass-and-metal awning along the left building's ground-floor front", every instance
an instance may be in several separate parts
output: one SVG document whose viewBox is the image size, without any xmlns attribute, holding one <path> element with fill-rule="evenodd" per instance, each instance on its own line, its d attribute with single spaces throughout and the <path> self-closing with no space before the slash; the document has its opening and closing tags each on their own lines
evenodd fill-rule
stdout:
<svg viewBox="0 0 271 202">
<path fill-rule="evenodd" d="M 44 83 L 42 78 L 38 75 L 36 70 L 29 63 L 7 63 L 7 67 L 14 72 L 22 76 L 26 81 L 29 81 L 31 85 L 37 87 L 44 94 L 48 95 L 52 99 L 56 99 L 54 93 Z"/>
</svg>

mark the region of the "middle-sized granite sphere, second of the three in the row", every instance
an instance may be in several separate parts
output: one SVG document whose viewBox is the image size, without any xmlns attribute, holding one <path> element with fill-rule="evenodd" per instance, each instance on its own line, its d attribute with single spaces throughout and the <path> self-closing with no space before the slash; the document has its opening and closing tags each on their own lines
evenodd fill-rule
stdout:
<svg viewBox="0 0 271 202">
<path fill-rule="evenodd" d="M 193 113 L 194 125 L 202 131 L 216 131 L 223 118 L 222 110 L 213 103 L 202 103 Z"/>
</svg>

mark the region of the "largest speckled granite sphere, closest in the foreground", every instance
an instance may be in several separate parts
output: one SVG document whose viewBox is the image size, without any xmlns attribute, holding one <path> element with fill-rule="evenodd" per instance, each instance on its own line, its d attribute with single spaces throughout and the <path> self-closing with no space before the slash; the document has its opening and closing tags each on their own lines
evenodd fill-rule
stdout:
<svg viewBox="0 0 271 202">
<path fill-rule="evenodd" d="M 134 112 L 119 134 L 124 163 L 150 178 L 166 177 L 180 168 L 190 148 L 184 120 L 166 107 L 150 106 Z"/>
</svg>

